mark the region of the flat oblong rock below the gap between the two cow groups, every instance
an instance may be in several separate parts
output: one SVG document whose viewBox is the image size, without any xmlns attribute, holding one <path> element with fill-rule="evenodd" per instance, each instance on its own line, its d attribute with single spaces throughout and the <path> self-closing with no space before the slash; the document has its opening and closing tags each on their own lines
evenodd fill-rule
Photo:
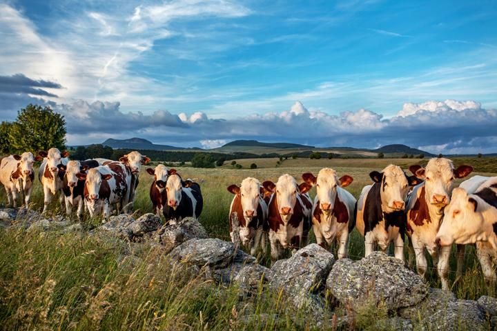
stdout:
<svg viewBox="0 0 497 331">
<path fill-rule="evenodd" d="M 235 257 L 235 245 L 221 239 L 190 239 L 173 249 L 168 257 L 187 265 L 222 269 Z"/>
</svg>

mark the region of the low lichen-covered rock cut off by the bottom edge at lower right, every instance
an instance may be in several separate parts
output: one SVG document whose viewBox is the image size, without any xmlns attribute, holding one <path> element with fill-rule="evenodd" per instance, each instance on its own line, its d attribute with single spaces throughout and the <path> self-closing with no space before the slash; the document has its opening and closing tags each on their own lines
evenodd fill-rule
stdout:
<svg viewBox="0 0 497 331">
<path fill-rule="evenodd" d="M 485 310 L 472 300 L 449 301 L 421 321 L 423 330 L 489 330 Z"/>
</svg>

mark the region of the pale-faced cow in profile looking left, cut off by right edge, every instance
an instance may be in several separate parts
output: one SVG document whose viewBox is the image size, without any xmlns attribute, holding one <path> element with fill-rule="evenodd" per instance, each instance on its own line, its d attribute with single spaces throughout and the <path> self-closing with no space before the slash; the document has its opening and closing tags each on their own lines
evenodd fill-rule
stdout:
<svg viewBox="0 0 497 331">
<path fill-rule="evenodd" d="M 476 243 L 476 255 L 485 279 L 490 283 L 497 281 L 492 268 L 492 262 L 497 262 L 497 177 L 489 178 L 474 194 L 462 188 L 454 189 L 436 241 L 449 248 L 452 243 Z"/>
</svg>

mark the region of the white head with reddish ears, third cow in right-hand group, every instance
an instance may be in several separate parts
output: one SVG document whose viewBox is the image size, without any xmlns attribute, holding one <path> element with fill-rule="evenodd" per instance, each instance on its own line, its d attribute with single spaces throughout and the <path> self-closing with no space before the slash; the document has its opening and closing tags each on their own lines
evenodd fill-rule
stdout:
<svg viewBox="0 0 497 331">
<path fill-rule="evenodd" d="M 320 208 L 325 214 L 333 210 L 338 186 L 344 188 L 353 181 L 353 178 L 347 174 L 339 179 L 337 172 L 331 168 L 321 169 L 318 177 L 314 177 L 311 172 L 306 172 L 302 174 L 302 179 L 309 185 L 315 185 Z"/>
</svg>

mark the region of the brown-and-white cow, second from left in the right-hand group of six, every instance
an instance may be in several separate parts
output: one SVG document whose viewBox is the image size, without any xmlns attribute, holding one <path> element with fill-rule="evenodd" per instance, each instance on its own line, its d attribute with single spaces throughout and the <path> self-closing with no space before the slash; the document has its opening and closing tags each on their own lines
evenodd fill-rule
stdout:
<svg viewBox="0 0 497 331">
<path fill-rule="evenodd" d="M 307 244 L 311 230 L 312 201 L 308 183 L 297 184 L 295 178 L 283 174 L 276 183 L 264 181 L 265 190 L 273 192 L 268 205 L 266 231 L 271 243 L 271 259 L 282 257 L 284 249 L 291 248 L 295 253 Z"/>
</svg>

